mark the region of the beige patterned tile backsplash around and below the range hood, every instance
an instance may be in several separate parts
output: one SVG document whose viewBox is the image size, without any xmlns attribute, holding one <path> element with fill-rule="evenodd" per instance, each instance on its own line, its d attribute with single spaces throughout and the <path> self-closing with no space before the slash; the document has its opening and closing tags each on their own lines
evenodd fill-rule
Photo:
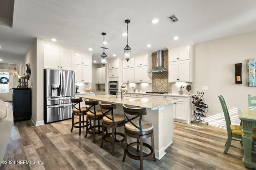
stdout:
<svg viewBox="0 0 256 170">
<path fill-rule="evenodd" d="M 152 68 L 156 67 L 156 53 L 152 53 Z M 164 51 L 164 67 L 168 69 L 168 50 Z M 172 93 L 172 83 L 168 82 L 168 72 L 152 74 L 152 91 Z"/>
</svg>

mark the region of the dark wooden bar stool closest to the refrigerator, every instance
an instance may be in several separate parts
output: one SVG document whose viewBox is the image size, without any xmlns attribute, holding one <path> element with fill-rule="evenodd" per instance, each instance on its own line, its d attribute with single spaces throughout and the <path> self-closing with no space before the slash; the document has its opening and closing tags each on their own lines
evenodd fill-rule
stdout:
<svg viewBox="0 0 256 170">
<path fill-rule="evenodd" d="M 81 127 L 86 127 L 86 125 L 84 125 L 84 123 L 86 123 L 86 121 L 84 121 L 84 115 L 86 115 L 87 109 L 86 107 L 80 107 L 80 102 L 83 102 L 82 98 L 79 99 L 71 99 L 72 102 L 72 127 L 71 127 L 71 132 L 73 130 L 74 127 L 79 128 L 79 135 L 81 135 Z M 74 122 L 74 116 L 79 116 L 79 121 Z M 83 118 L 83 120 L 81 121 L 81 117 Z M 81 125 L 81 123 L 83 125 Z M 79 124 L 79 125 L 76 125 Z"/>
</svg>

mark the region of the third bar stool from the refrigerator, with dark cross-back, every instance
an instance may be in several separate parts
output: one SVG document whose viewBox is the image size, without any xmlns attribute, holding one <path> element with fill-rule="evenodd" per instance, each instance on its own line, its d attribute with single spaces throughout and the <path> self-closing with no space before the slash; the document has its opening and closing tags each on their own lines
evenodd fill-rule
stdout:
<svg viewBox="0 0 256 170">
<path fill-rule="evenodd" d="M 124 115 L 113 114 L 113 110 L 116 109 L 116 104 L 103 104 L 100 101 L 100 108 L 103 115 L 102 131 L 108 127 L 112 128 L 112 133 L 108 133 L 108 131 L 106 131 L 106 135 L 104 135 L 104 132 L 102 133 L 100 147 L 102 147 L 103 142 L 112 145 L 112 155 L 114 155 L 115 145 L 124 142 L 124 134 L 116 132 L 117 127 L 124 125 Z M 121 136 L 122 139 L 116 139 L 117 135 Z M 111 137 L 111 140 L 109 137 Z"/>
</svg>

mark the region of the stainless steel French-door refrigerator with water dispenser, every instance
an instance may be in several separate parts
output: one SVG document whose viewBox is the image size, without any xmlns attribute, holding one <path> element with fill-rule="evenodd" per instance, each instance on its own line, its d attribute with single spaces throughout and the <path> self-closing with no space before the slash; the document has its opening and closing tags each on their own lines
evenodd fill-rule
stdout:
<svg viewBox="0 0 256 170">
<path fill-rule="evenodd" d="M 72 117 L 75 72 L 44 69 L 44 123 Z"/>
</svg>

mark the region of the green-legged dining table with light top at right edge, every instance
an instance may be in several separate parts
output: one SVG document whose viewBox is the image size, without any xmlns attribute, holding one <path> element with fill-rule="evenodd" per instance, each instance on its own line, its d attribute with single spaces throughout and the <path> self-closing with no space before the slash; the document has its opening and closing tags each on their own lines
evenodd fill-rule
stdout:
<svg viewBox="0 0 256 170">
<path fill-rule="evenodd" d="M 239 119 L 242 120 L 244 157 L 243 164 L 246 168 L 253 168 L 251 159 L 252 129 L 256 128 L 256 109 L 238 108 Z"/>
</svg>

